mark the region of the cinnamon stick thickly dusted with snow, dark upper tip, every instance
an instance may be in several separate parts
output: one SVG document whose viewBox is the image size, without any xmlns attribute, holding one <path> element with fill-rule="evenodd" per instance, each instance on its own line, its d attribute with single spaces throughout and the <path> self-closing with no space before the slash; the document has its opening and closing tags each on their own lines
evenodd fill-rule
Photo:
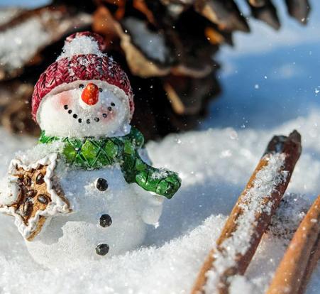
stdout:
<svg viewBox="0 0 320 294">
<path fill-rule="evenodd" d="M 301 137 L 275 136 L 229 215 L 192 289 L 228 293 L 228 278 L 245 273 L 272 214 L 280 204 L 301 154 Z"/>
</svg>

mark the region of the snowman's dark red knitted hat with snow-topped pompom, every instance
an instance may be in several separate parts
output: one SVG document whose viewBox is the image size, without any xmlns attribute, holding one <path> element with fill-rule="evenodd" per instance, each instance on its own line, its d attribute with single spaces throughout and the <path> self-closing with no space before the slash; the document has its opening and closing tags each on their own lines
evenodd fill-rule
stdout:
<svg viewBox="0 0 320 294">
<path fill-rule="evenodd" d="M 45 95 L 57 86 L 78 80 L 100 80 L 122 89 L 128 97 L 130 114 L 133 116 L 133 92 L 128 77 L 101 50 L 104 50 L 104 40 L 96 33 L 80 32 L 66 38 L 60 57 L 40 75 L 35 84 L 32 96 L 32 116 L 35 121 Z"/>
</svg>

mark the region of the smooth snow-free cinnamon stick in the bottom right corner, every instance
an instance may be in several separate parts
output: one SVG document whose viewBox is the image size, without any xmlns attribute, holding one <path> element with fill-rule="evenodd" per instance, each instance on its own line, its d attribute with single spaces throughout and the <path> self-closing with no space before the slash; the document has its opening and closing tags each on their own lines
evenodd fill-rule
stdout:
<svg viewBox="0 0 320 294">
<path fill-rule="evenodd" d="M 320 257 L 320 196 L 295 232 L 267 294 L 304 293 Z"/>
</svg>

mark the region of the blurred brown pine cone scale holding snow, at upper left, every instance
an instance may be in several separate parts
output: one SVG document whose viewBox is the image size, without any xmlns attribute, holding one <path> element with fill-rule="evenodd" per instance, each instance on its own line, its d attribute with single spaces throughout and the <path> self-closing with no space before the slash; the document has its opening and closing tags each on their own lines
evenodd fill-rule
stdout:
<svg viewBox="0 0 320 294">
<path fill-rule="evenodd" d="M 42 42 L 34 42 L 32 45 L 26 43 L 28 36 L 23 32 L 28 21 L 38 23 L 42 33 L 46 36 Z M 12 36 L 19 36 L 21 44 L 16 46 L 16 55 L 20 56 L 20 62 L 9 62 L 10 52 L 5 52 L 1 56 L 6 62 L 0 65 L 0 80 L 11 80 L 18 77 L 28 65 L 35 65 L 43 61 L 41 52 L 62 36 L 84 28 L 92 23 L 92 17 L 87 13 L 73 11 L 67 6 L 45 6 L 39 9 L 23 10 L 8 22 L 0 25 L 0 35 L 11 39 Z M 38 32 L 34 32 L 35 34 Z M 28 54 L 23 50 L 28 46 Z M 20 53 L 20 54 L 18 54 Z"/>
</svg>

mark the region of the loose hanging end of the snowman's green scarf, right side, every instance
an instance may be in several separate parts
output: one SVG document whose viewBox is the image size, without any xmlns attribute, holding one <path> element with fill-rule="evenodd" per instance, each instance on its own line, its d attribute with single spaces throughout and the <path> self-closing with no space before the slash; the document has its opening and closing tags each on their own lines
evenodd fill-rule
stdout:
<svg viewBox="0 0 320 294">
<path fill-rule="evenodd" d="M 170 199 L 181 186 L 177 173 L 153 168 L 145 163 L 138 151 L 123 156 L 123 175 L 128 183 L 137 183 L 144 190 Z"/>
</svg>

